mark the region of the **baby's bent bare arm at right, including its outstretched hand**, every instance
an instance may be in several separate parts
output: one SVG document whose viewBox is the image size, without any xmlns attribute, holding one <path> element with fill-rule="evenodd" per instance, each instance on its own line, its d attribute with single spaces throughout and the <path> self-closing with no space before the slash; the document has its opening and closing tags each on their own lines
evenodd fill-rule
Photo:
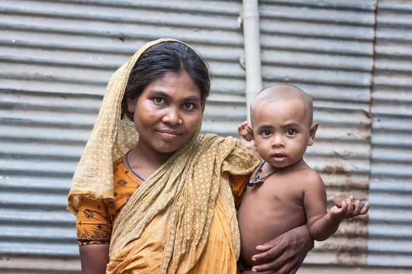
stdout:
<svg viewBox="0 0 412 274">
<path fill-rule="evenodd" d="M 316 173 L 315 171 L 312 171 Z M 310 235 L 314 240 L 322 241 L 332 236 L 343 219 L 366 214 L 369 204 L 362 208 L 361 202 L 356 201 L 352 206 L 350 199 L 342 202 L 342 207 L 334 206 L 329 213 L 326 213 L 326 191 L 319 174 L 311 174 L 305 186 L 304 207 Z M 347 206 L 347 205 L 350 206 Z"/>
</svg>

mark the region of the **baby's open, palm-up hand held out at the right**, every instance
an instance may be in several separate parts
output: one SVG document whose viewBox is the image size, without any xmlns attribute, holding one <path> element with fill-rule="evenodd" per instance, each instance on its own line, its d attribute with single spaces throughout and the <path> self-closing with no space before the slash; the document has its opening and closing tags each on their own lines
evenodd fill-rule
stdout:
<svg viewBox="0 0 412 274">
<path fill-rule="evenodd" d="M 362 206 L 361 201 L 355 200 L 352 195 L 348 199 L 336 198 L 335 206 L 330 209 L 330 215 L 336 219 L 350 219 L 364 215 L 369 210 L 369 203 Z"/>
</svg>

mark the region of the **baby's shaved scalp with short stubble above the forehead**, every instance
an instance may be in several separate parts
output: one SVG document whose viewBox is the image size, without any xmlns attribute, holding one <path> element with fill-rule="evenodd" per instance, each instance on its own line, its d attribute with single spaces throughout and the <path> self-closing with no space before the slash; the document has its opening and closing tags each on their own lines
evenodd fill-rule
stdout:
<svg viewBox="0 0 412 274">
<path fill-rule="evenodd" d="M 309 123 L 313 122 L 313 102 L 310 96 L 297 88 L 296 86 L 291 86 L 288 84 L 276 84 L 273 86 L 268 86 L 264 90 L 258 93 L 258 95 L 253 98 L 251 103 L 251 116 L 253 117 L 253 108 L 256 104 L 264 103 L 270 104 L 274 102 L 299 99 L 302 101 L 304 108 L 309 116 Z"/>
</svg>

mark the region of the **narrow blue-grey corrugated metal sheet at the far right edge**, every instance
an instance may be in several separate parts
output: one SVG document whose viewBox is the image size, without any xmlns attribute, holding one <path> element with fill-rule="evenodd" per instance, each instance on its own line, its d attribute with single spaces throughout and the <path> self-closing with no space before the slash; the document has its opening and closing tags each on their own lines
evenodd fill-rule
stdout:
<svg viewBox="0 0 412 274">
<path fill-rule="evenodd" d="M 380 0 L 368 264 L 412 269 L 412 2 Z"/>
</svg>

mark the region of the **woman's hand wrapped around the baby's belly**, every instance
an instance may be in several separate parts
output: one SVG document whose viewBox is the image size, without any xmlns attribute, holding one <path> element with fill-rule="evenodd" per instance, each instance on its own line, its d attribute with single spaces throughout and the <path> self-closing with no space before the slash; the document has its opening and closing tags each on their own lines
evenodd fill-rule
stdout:
<svg viewBox="0 0 412 274">
<path fill-rule="evenodd" d="M 296 227 L 256 247 L 262 253 L 252 257 L 258 265 L 253 272 L 296 273 L 314 246 L 307 225 Z"/>
</svg>

